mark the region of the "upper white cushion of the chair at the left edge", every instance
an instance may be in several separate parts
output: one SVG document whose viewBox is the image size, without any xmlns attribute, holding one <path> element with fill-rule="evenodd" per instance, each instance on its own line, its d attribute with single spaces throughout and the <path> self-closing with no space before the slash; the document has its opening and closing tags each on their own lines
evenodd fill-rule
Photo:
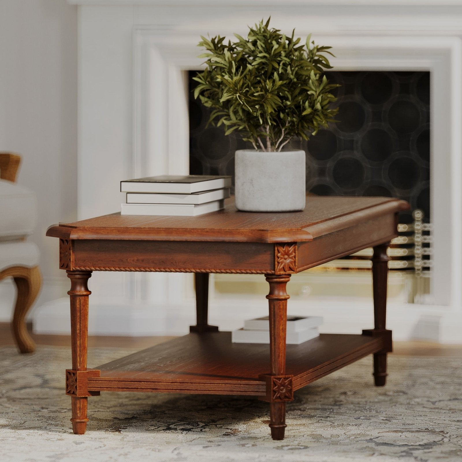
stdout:
<svg viewBox="0 0 462 462">
<path fill-rule="evenodd" d="M 37 198 L 30 189 L 0 180 L 0 241 L 28 236 L 37 222 Z"/>
</svg>

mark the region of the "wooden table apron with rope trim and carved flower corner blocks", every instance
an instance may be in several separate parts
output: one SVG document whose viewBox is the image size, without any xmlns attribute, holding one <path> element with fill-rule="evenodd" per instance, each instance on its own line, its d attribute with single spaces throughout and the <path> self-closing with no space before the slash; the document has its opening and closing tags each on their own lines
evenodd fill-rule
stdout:
<svg viewBox="0 0 462 462">
<path fill-rule="evenodd" d="M 60 239 L 60 267 L 73 271 L 292 274 L 396 236 L 397 214 L 388 214 L 303 243 Z"/>
</svg>

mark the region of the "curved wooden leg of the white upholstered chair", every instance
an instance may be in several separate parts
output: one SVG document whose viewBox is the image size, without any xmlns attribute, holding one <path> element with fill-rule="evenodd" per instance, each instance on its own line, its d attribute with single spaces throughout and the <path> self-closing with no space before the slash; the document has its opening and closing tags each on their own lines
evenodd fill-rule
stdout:
<svg viewBox="0 0 462 462">
<path fill-rule="evenodd" d="M 38 266 L 8 268 L 9 276 L 12 276 L 17 287 L 16 305 L 12 319 L 12 331 L 21 353 L 35 351 L 35 342 L 27 332 L 25 318 L 30 307 L 35 302 L 40 287 L 42 276 Z"/>
</svg>

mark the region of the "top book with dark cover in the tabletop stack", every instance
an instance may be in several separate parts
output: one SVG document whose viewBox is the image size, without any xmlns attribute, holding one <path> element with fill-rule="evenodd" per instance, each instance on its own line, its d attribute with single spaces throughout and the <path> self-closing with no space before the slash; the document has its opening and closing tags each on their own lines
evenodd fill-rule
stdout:
<svg viewBox="0 0 462 462">
<path fill-rule="evenodd" d="M 192 194 L 220 188 L 231 188 L 231 176 L 160 175 L 120 182 L 122 193 Z"/>
</svg>

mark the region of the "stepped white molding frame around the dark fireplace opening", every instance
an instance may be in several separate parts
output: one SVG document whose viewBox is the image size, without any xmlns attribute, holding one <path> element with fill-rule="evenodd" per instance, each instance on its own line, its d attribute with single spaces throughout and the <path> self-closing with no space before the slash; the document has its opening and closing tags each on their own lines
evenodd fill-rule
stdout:
<svg viewBox="0 0 462 462">
<path fill-rule="evenodd" d="M 228 26 L 228 24 L 226 24 Z M 297 29 L 300 36 L 308 31 Z M 224 35 L 226 30 L 224 31 Z M 149 175 L 188 172 L 186 71 L 200 69 L 191 31 L 134 29 L 133 170 Z M 432 132 L 432 296 L 445 310 L 462 307 L 462 46 L 448 36 L 316 34 L 329 43 L 335 70 L 430 71 Z M 165 117 L 167 115 L 167 117 Z M 444 204 L 444 206 L 443 206 Z"/>
</svg>

